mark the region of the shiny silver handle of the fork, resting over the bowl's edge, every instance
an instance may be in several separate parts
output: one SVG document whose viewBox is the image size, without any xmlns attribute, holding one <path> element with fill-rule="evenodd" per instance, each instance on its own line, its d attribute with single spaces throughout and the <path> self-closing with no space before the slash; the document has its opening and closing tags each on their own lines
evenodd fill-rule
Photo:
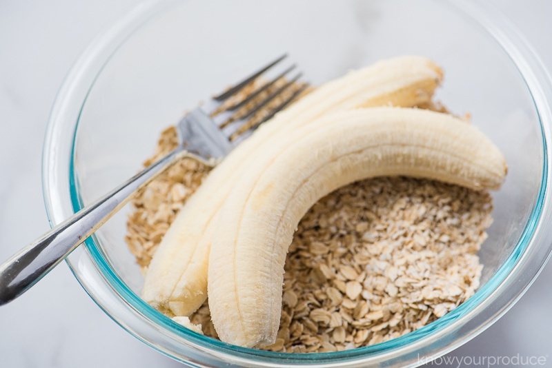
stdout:
<svg viewBox="0 0 552 368">
<path fill-rule="evenodd" d="M 184 156 L 195 158 L 195 155 L 189 154 L 181 147 L 177 148 L 2 263 L 0 265 L 0 305 L 26 292 L 130 201 L 138 190 Z"/>
</svg>

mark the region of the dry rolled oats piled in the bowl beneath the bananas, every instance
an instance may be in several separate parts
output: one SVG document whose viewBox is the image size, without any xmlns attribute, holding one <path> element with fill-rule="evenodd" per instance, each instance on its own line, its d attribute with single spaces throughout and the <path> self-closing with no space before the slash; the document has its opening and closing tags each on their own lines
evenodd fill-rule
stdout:
<svg viewBox="0 0 552 368">
<path fill-rule="evenodd" d="M 177 144 L 161 134 L 146 165 Z M 208 167 L 184 160 L 132 202 L 126 241 L 145 272 L 161 237 Z M 487 192 L 404 177 L 359 181 L 304 216 L 286 259 L 272 351 L 323 352 L 381 343 L 444 316 L 479 286 L 477 251 L 491 225 Z M 216 338 L 208 303 L 190 320 Z"/>
</svg>

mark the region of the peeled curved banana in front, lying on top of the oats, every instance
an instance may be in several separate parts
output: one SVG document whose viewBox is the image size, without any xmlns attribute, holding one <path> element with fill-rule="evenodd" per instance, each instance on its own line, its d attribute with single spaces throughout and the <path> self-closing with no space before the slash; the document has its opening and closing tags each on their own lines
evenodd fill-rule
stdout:
<svg viewBox="0 0 552 368">
<path fill-rule="evenodd" d="M 217 223 L 208 294 L 219 337 L 244 347 L 275 342 L 293 233 L 337 187 L 405 175 L 494 190 L 506 170 L 500 150 L 477 128 L 427 110 L 337 112 L 271 142 L 242 174 Z"/>
</svg>

